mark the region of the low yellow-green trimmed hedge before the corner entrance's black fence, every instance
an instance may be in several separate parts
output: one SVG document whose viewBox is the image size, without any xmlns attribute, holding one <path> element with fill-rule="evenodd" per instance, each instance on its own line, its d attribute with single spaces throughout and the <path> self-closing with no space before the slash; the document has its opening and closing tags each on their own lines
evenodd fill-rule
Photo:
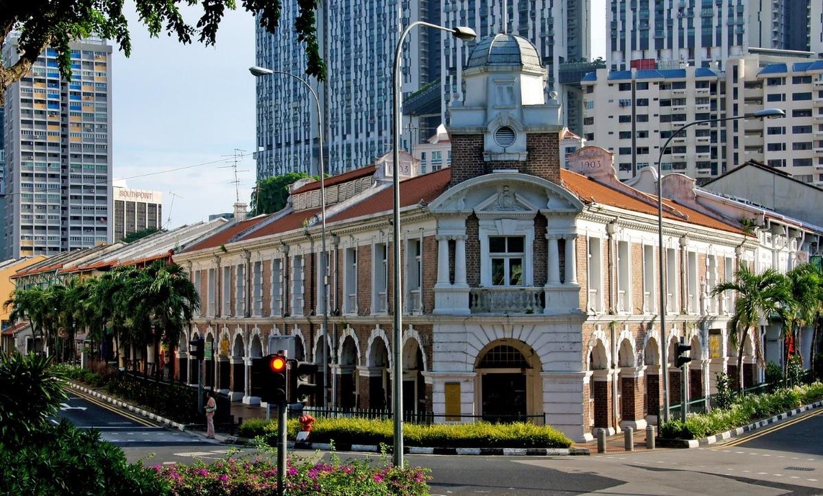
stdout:
<svg viewBox="0 0 823 496">
<path fill-rule="evenodd" d="M 342 444 L 391 445 L 394 424 L 391 420 L 368 420 L 353 417 L 319 418 L 309 439 L 313 443 L 334 441 Z M 297 420 L 289 420 L 289 438 L 300 431 Z M 277 421 L 248 420 L 240 425 L 244 438 L 263 436 L 267 443 L 277 443 Z M 407 446 L 422 447 L 570 447 L 565 434 L 551 426 L 518 422 L 514 424 L 403 424 Z"/>
</svg>

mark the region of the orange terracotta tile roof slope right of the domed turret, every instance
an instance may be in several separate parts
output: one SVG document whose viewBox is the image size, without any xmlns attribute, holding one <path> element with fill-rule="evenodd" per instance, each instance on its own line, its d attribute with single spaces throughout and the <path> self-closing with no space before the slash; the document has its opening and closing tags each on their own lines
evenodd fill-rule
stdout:
<svg viewBox="0 0 823 496">
<path fill-rule="evenodd" d="M 593 179 L 587 178 L 584 175 L 571 172 L 570 170 L 560 170 L 560 178 L 563 180 L 565 188 L 574 192 L 581 200 L 587 203 L 601 203 L 602 205 L 616 206 L 625 210 L 641 212 L 651 216 L 658 215 L 658 207 L 656 201 L 644 202 L 639 198 L 631 197 L 624 192 L 617 191 L 605 184 L 597 183 Z M 663 211 L 663 217 L 672 220 L 680 220 L 681 222 L 690 222 L 712 229 L 721 229 L 731 233 L 743 234 L 743 231 L 737 226 L 727 224 L 721 220 L 709 217 L 699 211 L 690 209 L 687 206 L 682 206 L 671 200 L 663 199 L 663 204 L 669 208 L 680 211 L 686 218 L 677 216 L 672 212 Z"/>
</svg>

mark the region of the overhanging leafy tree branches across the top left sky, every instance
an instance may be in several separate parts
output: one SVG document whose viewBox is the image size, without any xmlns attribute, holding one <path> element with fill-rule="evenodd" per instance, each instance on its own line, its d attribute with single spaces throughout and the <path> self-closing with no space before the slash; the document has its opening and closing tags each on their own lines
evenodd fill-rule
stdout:
<svg viewBox="0 0 823 496">
<path fill-rule="evenodd" d="M 29 72 L 48 46 L 57 50 L 60 73 L 67 79 L 72 76 L 69 49 L 72 40 L 91 35 L 113 39 L 128 57 L 132 43 L 123 3 L 124 0 L 0 0 L 0 46 L 13 30 L 21 34 L 20 59 L 10 67 L 0 67 L 0 106 L 5 101 L 6 88 Z M 184 21 L 180 3 L 202 8 L 196 25 Z M 183 44 L 190 44 L 196 38 L 206 45 L 215 44 L 226 8 L 234 10 L 236 3 L 236 0 L 135 0 L 137 14 L 149 35 L 174 35 Z M 279 0 L 241 0 L 240 4 L 256 16 L 268 32 L 277 29 L 281 12 Z M 323 80 L 326 67 L 320 58 L 314 14 L 318 0 L 299 0 L 298 5 L 300 15 L 295 19 L 295 31 L 297 40 L 305 43 L 306 73 Z"/>
</svg>

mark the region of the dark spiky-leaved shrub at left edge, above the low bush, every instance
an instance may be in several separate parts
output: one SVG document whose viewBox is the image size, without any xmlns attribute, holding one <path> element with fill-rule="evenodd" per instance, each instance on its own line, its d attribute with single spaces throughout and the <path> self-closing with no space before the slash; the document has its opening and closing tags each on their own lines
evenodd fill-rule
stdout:
<svg viewBox="0 0 823 496">
<path fill-rule="evenodd" d="M 0 354 L 0 443 L 16 446 L 47 426 L 67 399 L 62 378 L 50 358 Z"/>
</svg>

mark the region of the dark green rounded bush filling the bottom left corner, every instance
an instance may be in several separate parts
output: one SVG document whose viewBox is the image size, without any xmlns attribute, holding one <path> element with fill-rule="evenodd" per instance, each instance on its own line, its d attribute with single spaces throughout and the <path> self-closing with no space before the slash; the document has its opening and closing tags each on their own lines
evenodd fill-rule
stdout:
<svg viewBox="0 0 823 496">
<path fill-rule="evenodd" d="M 67 421 L 30 433 L 11 449 L 0 443 L 0 494 L 169 494 L 169 486 L 94 430 Z"/>
</svg>

